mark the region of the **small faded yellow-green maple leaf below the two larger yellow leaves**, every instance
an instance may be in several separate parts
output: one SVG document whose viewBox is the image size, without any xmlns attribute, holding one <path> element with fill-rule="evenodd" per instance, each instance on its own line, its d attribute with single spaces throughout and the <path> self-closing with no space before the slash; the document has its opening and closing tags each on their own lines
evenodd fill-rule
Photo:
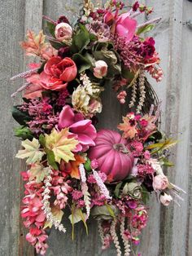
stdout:
<svg viewBox="0 0 192 256">
<path fill-rule="evenodd" d="M 40 164 L 33 164 L 28 170 L 29 180 L 35 179 L 36 183 L 41 183 L 43 179 L 49 174 L 50 167 L 44 167 Z"/>
</svg>

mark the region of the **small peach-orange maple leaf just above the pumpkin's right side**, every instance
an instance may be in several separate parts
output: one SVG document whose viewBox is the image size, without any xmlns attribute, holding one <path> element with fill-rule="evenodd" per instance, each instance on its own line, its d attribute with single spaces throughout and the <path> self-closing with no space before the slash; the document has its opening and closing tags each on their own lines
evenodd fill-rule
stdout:
<svg viewBox="0 0 192 256">
<path fill-rule="evenodd" d="M 123 117 L 123 123 L 120 123 L 117 128 L 124 131 L 124 139 L 133 139 L 137 135 L 136 125 L 131 126 L 129 123 L 129 117 Z"/>
</svg>

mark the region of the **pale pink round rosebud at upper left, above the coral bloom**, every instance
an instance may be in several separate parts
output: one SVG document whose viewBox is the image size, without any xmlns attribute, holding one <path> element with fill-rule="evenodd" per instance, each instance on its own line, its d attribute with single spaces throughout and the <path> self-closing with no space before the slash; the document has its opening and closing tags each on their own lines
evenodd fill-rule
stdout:
<svg viewBox="0 0 192 256">
<path fill-rule="evenodd" d="M 70 40 L 72 38 L 72 27 L 70 24 L 62 22 L 55 27 L 55 38 L 60 42 Z"/>
</svg>

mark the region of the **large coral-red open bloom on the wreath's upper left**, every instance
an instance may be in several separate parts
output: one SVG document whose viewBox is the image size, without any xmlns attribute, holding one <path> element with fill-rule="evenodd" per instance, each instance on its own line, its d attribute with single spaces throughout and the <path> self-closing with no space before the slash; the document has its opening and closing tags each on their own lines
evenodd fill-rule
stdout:
<svg viewBox="0 0 192 256">
<path fill-rule="evenodd" d="M 40 74 L 41 86 L 46 90 L 64 89 L 68 86 L 67 82 L 75 79 L 76 73 L 76 64 L 72 59 L 67 57 L 62 60 L 59 56 L 52 57 Z"/>
</svg>

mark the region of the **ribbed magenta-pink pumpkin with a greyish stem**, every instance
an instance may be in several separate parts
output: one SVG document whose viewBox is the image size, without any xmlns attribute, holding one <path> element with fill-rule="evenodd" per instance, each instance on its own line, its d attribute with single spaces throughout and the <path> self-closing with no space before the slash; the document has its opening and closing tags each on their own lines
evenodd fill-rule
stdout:
<svg viewBox="0 0 192 256">
<path fill-rule="evenodd" d="M 107 174 L 107 181 L 116 182 L 126 178 L 134 163 L 134 157 L 126 147 L 126 139 L 116 131 L 99 130 L 94 143 L 88 157 L 98 161 L 98 170 Z"/>
</svg>

